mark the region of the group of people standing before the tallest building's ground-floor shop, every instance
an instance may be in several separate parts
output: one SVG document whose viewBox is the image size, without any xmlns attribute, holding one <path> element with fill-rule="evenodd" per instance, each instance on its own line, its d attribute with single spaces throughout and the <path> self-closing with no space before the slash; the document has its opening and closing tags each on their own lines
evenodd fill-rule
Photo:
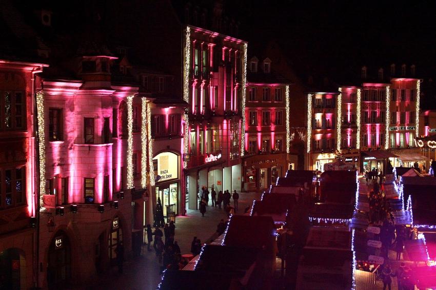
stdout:
<svg viewBox="0 0 436 290">
<path fill-rule="evenodd" d="M 201 194 L 199 196 L 200 203 L 199 209 L 204 217 L 206 214 L 206 207 L 209 206 L 209 194 L 211 195 L 212 206 L 215 208 L 224 209 L 228 216 L 237 212 L 239 205 L 239 193 L 236 190 L 231 194 L 228 190 L 219 191 L 216 194 L 215 189 L 211 188 L 211 192 L 207 189 L 207 187 L 202 187 Z M 233 199 L 233 206 L 231 206 L 231 199 Z M 221 206 L 222 204 L 222 206 Z"/>
</svg>

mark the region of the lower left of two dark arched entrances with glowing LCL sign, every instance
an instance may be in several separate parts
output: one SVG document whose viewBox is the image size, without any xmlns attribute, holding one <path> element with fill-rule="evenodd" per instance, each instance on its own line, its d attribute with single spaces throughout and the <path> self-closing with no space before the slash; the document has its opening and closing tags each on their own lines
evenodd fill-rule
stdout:
<svg viewBox="0 0 436 290">
<path fill-rule="evenodd" d="M 63 231 L 58 231 L 49 245 L 47 283 L 49 289 L 64 289 L 71 280 L 71 244 Z"/>
</svg>

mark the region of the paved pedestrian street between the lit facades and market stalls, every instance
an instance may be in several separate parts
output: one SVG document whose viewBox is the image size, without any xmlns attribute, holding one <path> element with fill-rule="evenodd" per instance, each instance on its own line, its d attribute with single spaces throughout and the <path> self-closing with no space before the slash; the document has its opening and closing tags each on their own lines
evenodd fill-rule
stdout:
<svg viewBox="0 0 436 290">
<path fill-rule="evenodd" d="M 260 198 L 260 193 L 240 193 L 239 211 L 235 214 L 244 214 L 244 209 L 251 206 L 256 198 Z M 233 206 L 233 199 L 231 205 Z M 221 219 L 227 219 L 226 212 L 224 209 L 213 208 L 210 200 L 205 217 L 197 210 L 188 210 L 187 216 L 176 217 L 174 240 L 179 243 L 182 255 L 190 254 L 194 236 L 202 243 L 207 242 L 215 233 L 216 225 Z M 95 282 L 75 289 L 154 290 L 161 281 L 161 266 L 154 250 L 148 252 L 147 245 L 144 245 L 141 257 L 126 258 L 123 274 L 118 274 L 117 267 L 114 266 L 104 275 L 97 276 Z"/>
</svg>

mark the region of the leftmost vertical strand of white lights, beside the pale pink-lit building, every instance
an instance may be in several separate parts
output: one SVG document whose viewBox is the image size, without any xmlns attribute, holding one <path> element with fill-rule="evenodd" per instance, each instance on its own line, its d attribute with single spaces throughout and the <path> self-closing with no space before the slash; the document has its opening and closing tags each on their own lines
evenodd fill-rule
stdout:
<svg viewBox="0 0 436 290">
<path fill-rule="evenodd" d="M 36 93 L 36 113 L 38 121 L 38 145 L 39 145 L 39 210 L 44 210 L 43 195 L 46 185 L 46 146 L 44 133 L 44 93 Z M 30 201 L 29 201 L 30 202 Z"/>
</svg>

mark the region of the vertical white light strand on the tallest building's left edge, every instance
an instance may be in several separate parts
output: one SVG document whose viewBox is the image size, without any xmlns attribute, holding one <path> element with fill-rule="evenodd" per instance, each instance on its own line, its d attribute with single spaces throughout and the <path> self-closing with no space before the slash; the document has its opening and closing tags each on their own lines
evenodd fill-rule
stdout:
<svg viewBox="0 0 436 290">
<path fill-rule="evenodd" d="M 191 60 L 191 28 L 186 27 L 185 33 L 185 59 L 183 66 L 183 100 L 189 103 L 189 63 Z M 185 155 L 189 154 L 189 116 L 188 110 L 185 110 L 185 127 L 183 136 L 183 168 L 188 167 L 188 161 L 185 160 Z"/>
</svg>

